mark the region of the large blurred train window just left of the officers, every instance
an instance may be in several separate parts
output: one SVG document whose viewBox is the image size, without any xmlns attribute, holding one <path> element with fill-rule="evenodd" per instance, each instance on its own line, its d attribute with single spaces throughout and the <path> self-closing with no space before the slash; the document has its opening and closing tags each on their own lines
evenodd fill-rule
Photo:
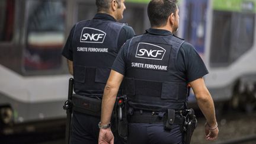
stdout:
<svg viewBox="0 0 256 144">
<path fill-rule="evenodd" d="M 61 0 L 27 1 L 25 72 L 57 70 L 65 43 L 65 4 Z"/>
</svg>

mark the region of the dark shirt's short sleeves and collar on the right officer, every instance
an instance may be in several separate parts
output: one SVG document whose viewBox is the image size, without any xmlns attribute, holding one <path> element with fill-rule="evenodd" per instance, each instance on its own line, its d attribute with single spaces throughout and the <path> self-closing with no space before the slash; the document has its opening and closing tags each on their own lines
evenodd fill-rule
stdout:
<svg viewBox="0 0 256 144">
<path fill-rule="evenodd" d="M 147 33 L 156 35 L 156 36 L 169 36 L 172 35 L 171 32 L 167 30 L 159 30 L 159 29 L 153 29 L 150 28 L 149 30 L 146 30 Z M 121 48 L 119 55 L 117 55 L 116 60 L 113 63 L 112 69 L 116 72 L 121 73 L 122 75 L 125 75 L 126 72 L 126 62 L 127 62 L 127 53 L 129 52 L 130 40 L 127 40 L 124 46 Z M 201 78 L 202 76 L 209 73 L 207 71 L 206 66 L 204 65 L 203 60 L 199 56 L 199 54 L 196 52 L 196 49 L 187 42 L 184 42 L 180 50 L 178 52 L 177 60 L 176 60 L 176 66 L 177 69 L 185 73 L 187 76 L 187 82 L 194 81 L 198 78 Z"/>
</svg>

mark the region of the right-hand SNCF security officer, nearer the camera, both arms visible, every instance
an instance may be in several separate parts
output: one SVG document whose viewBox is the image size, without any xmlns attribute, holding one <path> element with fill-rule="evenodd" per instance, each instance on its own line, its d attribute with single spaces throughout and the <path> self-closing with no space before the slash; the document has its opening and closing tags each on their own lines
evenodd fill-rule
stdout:
<svg viewBox="0 0 256 144">
<path fill-rule="evenodd" d="M 128 143 L 184 143 L 178 113 L 187 108 L 188 83 L 207 120 L 206 139 L 216 139 L 215 108 L 202 78 L 206 66 L 191 44 L 172 34 L 178 30 L 178 11 L 177 0 L 152 0 L 151 28 L 121 48 L 104 90 L 99 143 L 113 143 L 110 117 L 123 78 L 131 115 Z"/>
</svg>

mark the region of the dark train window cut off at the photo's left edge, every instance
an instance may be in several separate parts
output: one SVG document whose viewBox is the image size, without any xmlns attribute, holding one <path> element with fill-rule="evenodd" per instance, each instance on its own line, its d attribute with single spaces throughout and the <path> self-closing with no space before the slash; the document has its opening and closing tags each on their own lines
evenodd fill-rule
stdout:
<svg viewBox="0 0 256 144">
<path fill-rule="evenodd" d="M 0 41 L 11 41 L 14 27 L 14 0 L 0 1 Z"/>
</svg>

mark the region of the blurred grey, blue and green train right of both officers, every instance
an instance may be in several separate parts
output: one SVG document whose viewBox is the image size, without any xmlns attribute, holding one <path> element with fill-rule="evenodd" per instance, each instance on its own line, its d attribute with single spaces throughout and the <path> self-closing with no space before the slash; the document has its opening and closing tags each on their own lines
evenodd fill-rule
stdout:
<svg viewBox="0 0 256 144">
<path fill-rule="evenodd" d="M 204 81 L 218 113 L 226 107 L 247 113 L 255 110 L 255 4 L 254 0 L 181 4 L 179 36 L 193 44 L 204 60 L 209 70 Z M 190 100 L 195 101 L 194 95 Z"/>
</svg>

